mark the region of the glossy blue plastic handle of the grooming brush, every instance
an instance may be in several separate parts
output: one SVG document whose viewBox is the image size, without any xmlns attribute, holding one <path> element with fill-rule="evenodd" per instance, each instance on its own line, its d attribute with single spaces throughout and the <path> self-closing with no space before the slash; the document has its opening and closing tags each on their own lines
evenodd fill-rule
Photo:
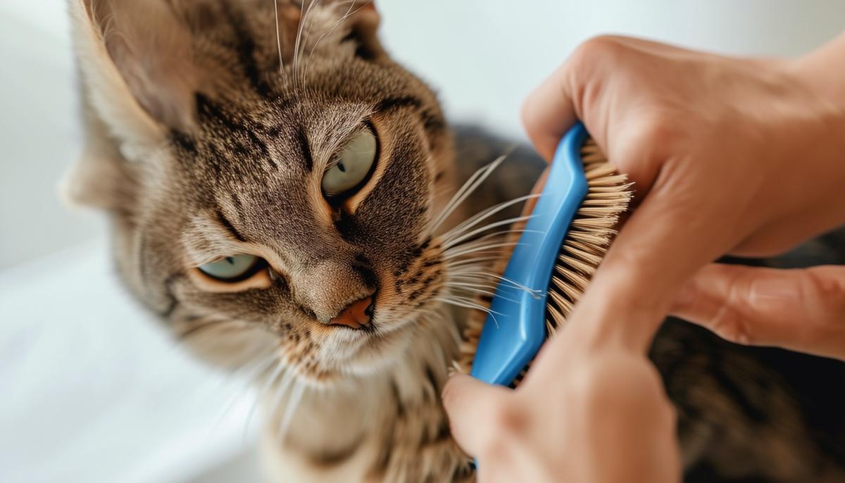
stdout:
<svg viewBox="0 0 845 483">
<path fill-rule="evenodd" d="M 493 296 L 492 313 L 484 322 L 470 372 L 485 383 L 513 383 L 546 339 L 546 294 L 552 269 L 586 197 L 581 147 L 587 136 L 579 122 L 560 141 L 546 186 Z"/>
</svg>

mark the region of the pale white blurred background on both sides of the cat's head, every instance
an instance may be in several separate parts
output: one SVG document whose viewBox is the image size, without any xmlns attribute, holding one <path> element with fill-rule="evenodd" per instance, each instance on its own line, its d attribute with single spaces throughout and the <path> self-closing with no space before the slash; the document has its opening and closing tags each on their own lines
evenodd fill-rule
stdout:
<svg viewBox="0 0 845 483">
<path fill-rule="evenodd" d="M 521 99 L 592 35 L 796 56 L 845 30 L 842 0 L 376 4 L 450 119 L 511 138 Z M 117 284 L 101 216 L 57 196 L 80 149 L 66 3 L 3 0 L 0 65 L 0 481 L 260 481 L 243 382 L 174 347 Z"/>
</svg>

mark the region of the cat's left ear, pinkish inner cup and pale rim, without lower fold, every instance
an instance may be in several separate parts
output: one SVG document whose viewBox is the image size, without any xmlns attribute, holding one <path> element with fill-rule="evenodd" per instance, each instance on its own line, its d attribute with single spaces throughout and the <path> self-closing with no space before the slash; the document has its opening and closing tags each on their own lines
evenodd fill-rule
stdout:
<svg viewBox="0 0 845 483">
<path fill-rule="evenodd" d="M 144 148 L 194 127 L 199 73 L 191 37 L 160 0 L 72 0 L 90 105 L 120 143 Z"/>
</svg>

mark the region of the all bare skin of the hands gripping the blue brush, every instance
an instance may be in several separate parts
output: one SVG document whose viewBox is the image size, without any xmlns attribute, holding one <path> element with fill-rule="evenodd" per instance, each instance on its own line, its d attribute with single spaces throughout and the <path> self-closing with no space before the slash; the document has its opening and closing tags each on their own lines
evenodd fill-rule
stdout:
<svg viewBox="0 0 845 483">
<path fill-rule="evenodd" d="M 747 345 L 845 360 L 845 269 L 768 256 L 845 223 L 845 35 L 797 59 L 603 36 L 523 108 L 551 160 L 581 119 L 635 209 L 567 326 L 515 390 L 456 375 L 444 405 L 479 480 L 668 482 L 675 415 L 646 351 L 672 313 Z"/>
</svg>

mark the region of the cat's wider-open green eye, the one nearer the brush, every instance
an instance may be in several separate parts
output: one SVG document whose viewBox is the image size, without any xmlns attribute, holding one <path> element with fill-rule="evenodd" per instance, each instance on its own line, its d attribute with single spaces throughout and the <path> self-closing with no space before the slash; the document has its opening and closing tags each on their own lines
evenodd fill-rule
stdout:
<svg viewBox="0 0 845 483">
<path fill-rule="evenodd" d="M 338 196 L 360 187 L 375 164 L 376 150 L 375 134 L 369 129 L 359 133 L 323 175 L 323 193 Z"/>
</svg>

